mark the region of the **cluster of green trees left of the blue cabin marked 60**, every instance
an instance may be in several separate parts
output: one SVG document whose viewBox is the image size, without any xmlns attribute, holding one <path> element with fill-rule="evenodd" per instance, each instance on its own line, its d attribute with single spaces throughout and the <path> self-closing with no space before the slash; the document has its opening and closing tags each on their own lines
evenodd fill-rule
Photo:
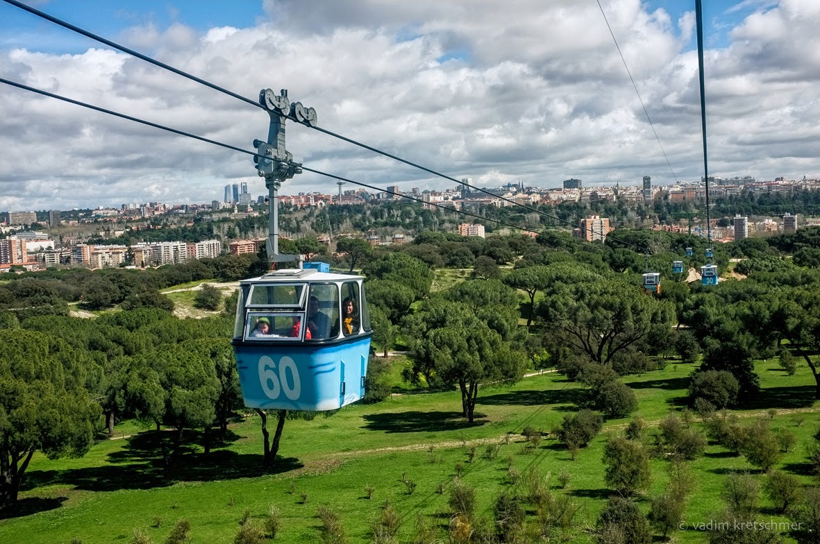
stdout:
<svg viewBox="0 0 820 544">
<path fill-rule="evenodd" d="M 0 315 L 0 507 L 16 501 L 36 450 L 80 456 L 94 432 L 134 418 L 157 429 L 167 475 L 186 429 L 203 429 L 209 451 L 212 429 L 225 433 L 241 406 L 225 317 L 179 320 L 153 308 L 97 320 Z"/>
</svg>

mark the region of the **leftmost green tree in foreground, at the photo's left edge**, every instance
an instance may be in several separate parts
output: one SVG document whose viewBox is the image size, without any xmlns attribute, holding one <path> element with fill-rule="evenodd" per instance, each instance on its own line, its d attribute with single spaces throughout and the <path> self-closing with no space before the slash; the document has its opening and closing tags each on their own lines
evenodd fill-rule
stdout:
<svg viewBox="0 0 820 544">
<path fill-rule="evenodd" d="M 83 385 L 89 360 L 43 333 L 0 330 L 0 508 L 14 505 L 34 451 L 89 451 L 102 414 Z"/>
</svg>

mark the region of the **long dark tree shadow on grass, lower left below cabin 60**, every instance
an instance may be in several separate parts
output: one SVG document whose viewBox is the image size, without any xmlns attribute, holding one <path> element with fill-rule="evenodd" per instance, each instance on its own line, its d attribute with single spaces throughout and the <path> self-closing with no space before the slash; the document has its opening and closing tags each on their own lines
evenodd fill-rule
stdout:
<svg viewBox="0 0 820 544">
<path fill-rule="evenodd" d="M 166 447 L 171 433 L 162 433 Z M 25 474 L 21 490 L 43 485 L 69 485 L 89 491 L 116 491 L 120 489 L 151 489 L 166 487 L 176 482 L 207 482 L 232 478 L 254 478 L 266 474 L 280 474 L 303 467 L 294 458 L 277 457 L 272 469 L 262 468 L 262 452 L 238 454 L 235 451 L 216 450 L 208 455 L 194 451 L 200 441 L 197 433 L 189 433 L 180 446 L 180 453 L 171 460 L 166 471 L 157 433 L 140 433 L 127 439 L 125 447 L 108 454 L 107 464 L 64 470 L 32 470 Z M 184 435 L 185 436 L 185 435 Z"/>
</svg>

